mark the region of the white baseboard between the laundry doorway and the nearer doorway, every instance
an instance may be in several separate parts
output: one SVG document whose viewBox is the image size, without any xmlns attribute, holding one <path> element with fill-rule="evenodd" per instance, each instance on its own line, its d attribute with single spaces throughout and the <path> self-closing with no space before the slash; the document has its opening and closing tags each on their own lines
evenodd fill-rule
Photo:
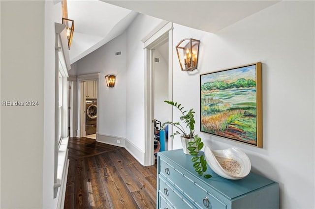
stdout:
<svg viewBox="0 0 315 209">
<path fill-rule="evenodd" d="M 126 148 L 126 150 L 134 158 L 136 158 L 136 160 L 138 160 L 142 165 L 144 165 L 145 153 L 126 138 L 96 133 L 96 141 Z M 118 143 L 118 141 L 120 143 Z"/>
</svg>

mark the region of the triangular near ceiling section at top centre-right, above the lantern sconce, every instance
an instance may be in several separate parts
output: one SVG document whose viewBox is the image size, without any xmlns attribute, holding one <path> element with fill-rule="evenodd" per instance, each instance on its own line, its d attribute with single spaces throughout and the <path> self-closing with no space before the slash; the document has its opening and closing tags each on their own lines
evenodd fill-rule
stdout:
<svg viewBox="0 0 315 209">
<path fill-rule="evenodd" d="M 183 26 L 215 33 L 276 0 L 102 0 Z"/>
</svg>

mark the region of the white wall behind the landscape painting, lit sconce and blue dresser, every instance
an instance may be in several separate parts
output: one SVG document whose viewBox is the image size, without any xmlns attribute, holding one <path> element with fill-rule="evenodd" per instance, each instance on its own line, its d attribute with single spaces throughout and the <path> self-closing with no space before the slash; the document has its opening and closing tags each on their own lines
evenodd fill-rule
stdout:
<svg viewBox="0 0 315 209">
<path fill-rule="evenodd" d="M 196 133 L 207 146 L 240 147 L 253 172 L 279 182 L 284 209 L 315 207 L 314 6 L 314 1 L 282 1 L 216 34 L 174 26 L 174 47 L 183 38 L 200 40 L 198 70 L 181 72 L 174 54 L 174 101 L 194 108 Z M 262 62 L 263 148 L 200 133 L 199 75 L 257 61 Z M 174 148 L 180 147 L 174 139 Z"/>
</svg>

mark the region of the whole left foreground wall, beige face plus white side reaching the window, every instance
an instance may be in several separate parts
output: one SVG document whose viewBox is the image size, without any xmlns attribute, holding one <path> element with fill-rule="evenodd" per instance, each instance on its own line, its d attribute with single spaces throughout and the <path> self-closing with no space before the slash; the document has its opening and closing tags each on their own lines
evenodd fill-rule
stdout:
<svg viewBox="0 0 315 209">
<path fill-rule="evenodd" d="M 54 186 L 55 22 L 61 3 L 1 1 L 0 208 L 56 208 Z M 23 18 L 21 18 L 23 17 Z M 10 20 L 10 21 L 7 21 Z M 25 31 L 21 36 L 21 31 Z M 18 198 L 18 199 L 17 199 Z"/>
</svg>

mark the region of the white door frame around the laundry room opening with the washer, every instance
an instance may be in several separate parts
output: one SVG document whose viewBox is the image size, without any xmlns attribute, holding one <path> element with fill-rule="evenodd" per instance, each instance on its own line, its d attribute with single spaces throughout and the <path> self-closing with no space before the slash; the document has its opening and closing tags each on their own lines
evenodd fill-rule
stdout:
<svg viewBox="0 0 315 209">
<path fill-rule="evenodd" d="M 97 98 L 99 98 L 99 76 L 100 73 L 93 73 L 93 74 L 85 74 L 79 75 L 77 80 L 77 88 L 78 88 L 78 131 L 77 136 L 83 137 L 84 130 L 85 130 L 85 98 L 83 95 L 83 89 L 81 88 L 81 83 L 87 80 L 97 80 Z M 97 104 L 99 105 L 99 104 Z M 98 124 L 98 117 L 96 117 L 96 124 Z M 96 141 L 97 141 L 97 133 L 98 133 L 98 126 L 96 126 Z"/>
</svg>

